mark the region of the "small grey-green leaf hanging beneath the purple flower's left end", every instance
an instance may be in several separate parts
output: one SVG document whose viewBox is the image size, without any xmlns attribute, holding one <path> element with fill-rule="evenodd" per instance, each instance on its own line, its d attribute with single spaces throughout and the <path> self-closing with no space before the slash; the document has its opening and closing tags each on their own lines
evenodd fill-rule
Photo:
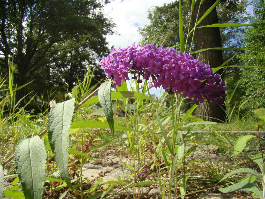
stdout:
<svg viewBox="0 0 265 199">
<path fill-rule="evenodd" d="M 111 102 L 111 81 L 105 81 L 99 87 L 99 103 L 107 118 L 112 137 L 114 136 L 114 121 Z"/>
</svg>

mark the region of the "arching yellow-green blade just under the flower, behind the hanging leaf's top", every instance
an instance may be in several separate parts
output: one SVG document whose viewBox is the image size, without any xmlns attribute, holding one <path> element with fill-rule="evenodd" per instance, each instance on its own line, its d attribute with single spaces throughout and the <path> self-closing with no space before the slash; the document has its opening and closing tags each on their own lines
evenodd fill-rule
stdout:
<svg viewBox="0 0 265 199">
<path fill-rule="evenodd" d="M 141 93 L 135 93 L 135 92 L 131 92 L 131 91 L 121 91 L 121 92 L 112 92 L 111 93 L 111 99 L 119 99 L 119 98 L 136 98 L 136 99 L 146 99 L 146 100 L 151 100 L 153 101 L 153 99 L 151 99 L 150 97 L 147 97 Z M 87 100 L 85 103 L 83 103 L 83 105 L 81 105 L 79 108 L 91 105 L 91 104 L 95 104 L 99 102 L 99 96 L 95 96 L 90 98 L 89 100 Z"/>
</svg>

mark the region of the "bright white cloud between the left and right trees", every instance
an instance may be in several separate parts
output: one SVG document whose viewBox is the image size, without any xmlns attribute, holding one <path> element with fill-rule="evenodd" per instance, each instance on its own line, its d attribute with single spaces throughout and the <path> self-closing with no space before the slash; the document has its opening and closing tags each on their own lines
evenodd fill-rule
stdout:
<svg viewBox="0 0 265 199">
<path fill-rule="evenodd" d="M 109 46 L 115 48 L 126 47 L 141 40 L 137 29 L 150 23 L 147 18 L 147 11 L 152 6 L 162 6 L 173 0 L 131 0 L 131 1 L 112 1 L 105 6 L 106 17 L 112 18 L 116 23 L 117 31 L 120 35 L 108 35 Z"/>
</svg>

